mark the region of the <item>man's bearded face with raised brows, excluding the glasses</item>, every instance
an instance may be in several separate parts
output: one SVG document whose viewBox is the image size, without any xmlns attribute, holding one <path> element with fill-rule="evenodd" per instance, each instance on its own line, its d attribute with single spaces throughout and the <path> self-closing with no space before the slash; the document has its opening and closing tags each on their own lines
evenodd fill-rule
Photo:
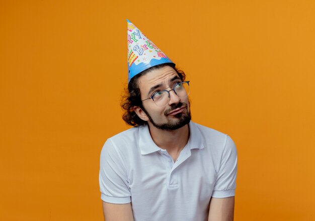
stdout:
<svg viewBox="0 0 315 221">
<path fill-rule="evenodd" d="M 171 66 L 147 72 L 138 79 L 141 100 L 151 97 L 156 91 L 169 91 L 178 82 L 181 79 Z M 166 106 L 156 106 L 152 99 L 148 99 L 142 102 L 141 109 L 149 126 L 159 129 L 179 129 L 191 120 L 188 97 L 179 98 L 174 91 L 170 91 L 170 101 Z"/>
</svg>

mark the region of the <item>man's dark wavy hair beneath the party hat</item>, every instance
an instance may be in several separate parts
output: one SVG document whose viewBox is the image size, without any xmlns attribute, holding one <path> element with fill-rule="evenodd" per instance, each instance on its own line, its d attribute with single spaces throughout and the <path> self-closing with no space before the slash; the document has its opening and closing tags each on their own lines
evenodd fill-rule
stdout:
<svg viewBox="0 0 315 221">
<path fill-rule="evenodd" d="M 177 72 L 178 76 L 182 81 L 185 81 L 185 73 L 184 71 L 178 69 L 171 63 L 164 63 L 159 64 L 153 67 L 150 67 L 146 70 L 143 70 L 142 72 L 138 73 L 136 76 L 134 76 L 129 84 L 128 89 L 125 89 L 125 96 L 122 97 L 121 102 L 121 108 L 123 109 L 124 113 L 122 115 L 122 119 L 126 122 L 126 124 L 129 124 L 131 126 L 142 126 L 145 125 L 147 122 L 142 120 L 138 115 L 135 113 L 133 107 L 137 106 L 143 109 L 142 101 L 141 101 L 141 94 L 139 89 L 139 78 L 146 73 L 150 71 L 157 70 L 159 68 L 162 68 L 164 66 L 171 66 L 174 68 L 174 70 Z"/>
</svg>

